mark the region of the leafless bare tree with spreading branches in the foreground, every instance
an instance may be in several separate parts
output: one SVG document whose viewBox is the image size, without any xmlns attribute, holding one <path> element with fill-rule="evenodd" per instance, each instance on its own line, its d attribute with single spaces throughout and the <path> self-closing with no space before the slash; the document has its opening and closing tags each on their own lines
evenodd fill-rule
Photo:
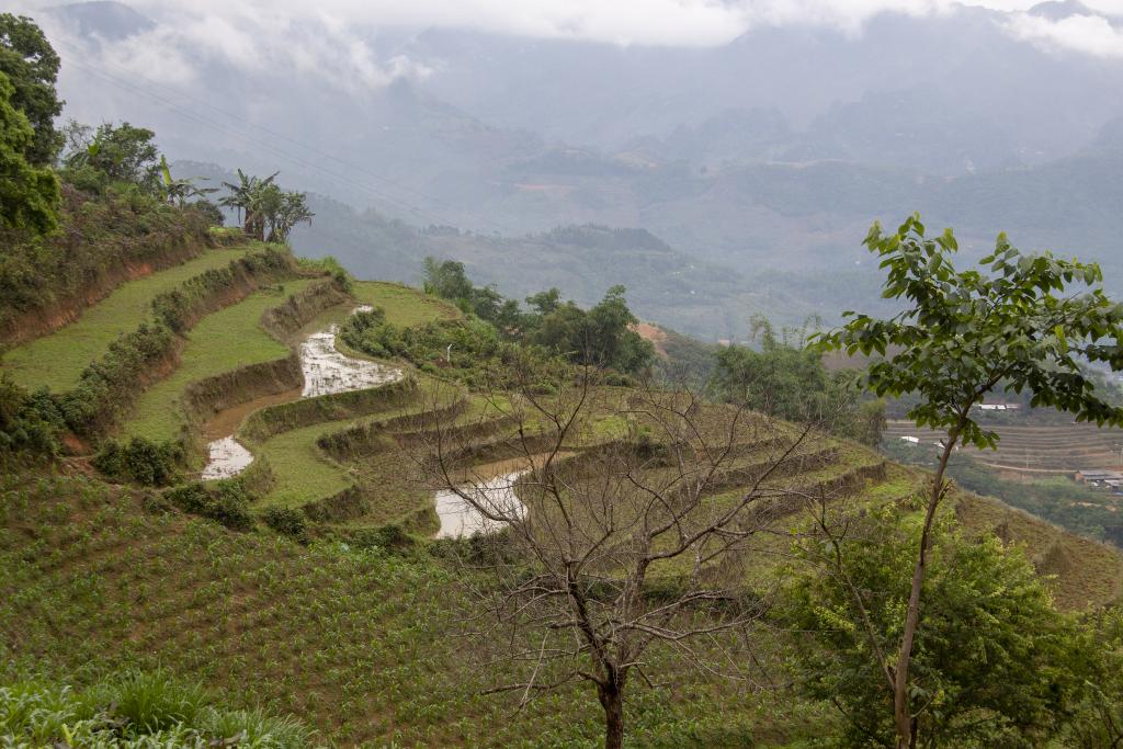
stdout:
<svg viewBox="0 0 1123 749">
<path fill-rule="evenodd" d="M 787 484 L 824 450 L 810 427 L 687 390 L 596 381 L 586 368 L 542 395 L 528 378 L 496 394 L 491 415 L 435 418 L 423 431 L 433 483 L 475 519 L 459 528 L 506 529 L 474 600 L 523 676 L 490 691 L 518 694 L 521 710 L 583 679 L 596 689 L 611 749 L 622 746 L 630 681 L 652 685 L 654 669 L 669 663 L 654 650 L 748 677 L 743 638 L 770 596 L 747 585 L 739 561 L 798 502 Z"/>
</svg>

